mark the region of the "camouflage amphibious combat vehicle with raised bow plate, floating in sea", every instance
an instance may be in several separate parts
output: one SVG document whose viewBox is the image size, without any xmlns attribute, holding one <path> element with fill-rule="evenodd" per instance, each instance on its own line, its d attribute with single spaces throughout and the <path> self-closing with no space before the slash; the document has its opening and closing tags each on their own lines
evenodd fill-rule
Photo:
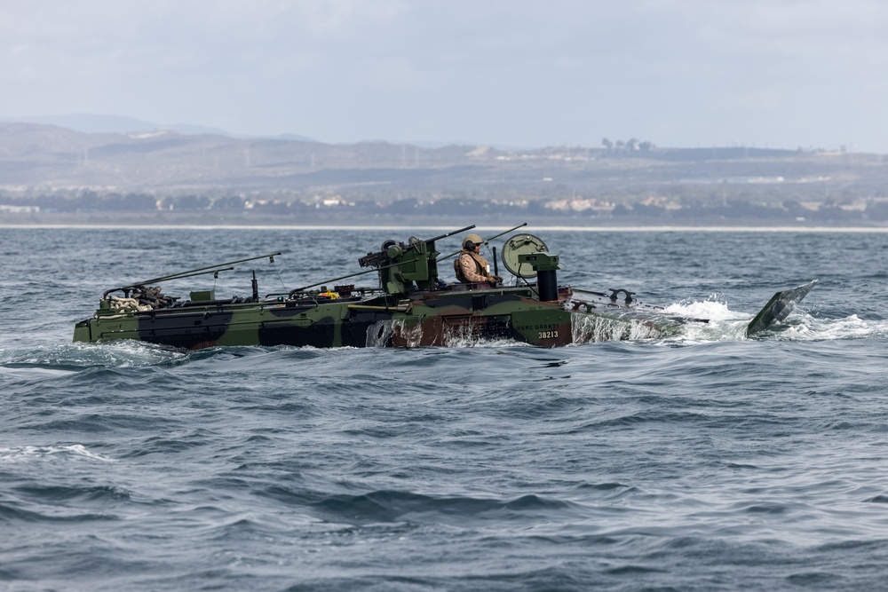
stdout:
<svg viewBox="0 0 888 592">
<path fill-rule="evenodd" d="M 210 273 L 218 277 L 219 272 L 234 269 L 231 265 L 265 258 L 274 262 L 281 253 L 111 288 L 102 295 L 95 314 L 76 324 L 74 341 L 132 339 L 186 350 L 225 345 L 415 347 L 480 339 L 553 347 L 662 337 L 677 334 L 686 323 L 707 322 L 671 315 L 640 302 L 626 289 L 594 292 L 561 286 L 559 256 L 529 233 L 516 233 L 503 243 L 500 256 L 511 280 L 442 280 L 439 264 L 458 251 L 442 257 L 435 241 L 473 227 L 432 239 L 385 241 L 378 251 L 358 260 L 366 270 L 286 293 L 260 296 L 255 271 L 251 294 L 242 297 L 217 298 L 214 290 L 199 290 L 182 299 L 165 296 L 153 285 Z M 493 256 L 496 270 L 496 246 Z M 374 287 L 334 283 L 372 272 L 378 280 Z M 775 294 L 749 323 L 748 335 L 784 320 L 816 282 Z"/>
</svg>

